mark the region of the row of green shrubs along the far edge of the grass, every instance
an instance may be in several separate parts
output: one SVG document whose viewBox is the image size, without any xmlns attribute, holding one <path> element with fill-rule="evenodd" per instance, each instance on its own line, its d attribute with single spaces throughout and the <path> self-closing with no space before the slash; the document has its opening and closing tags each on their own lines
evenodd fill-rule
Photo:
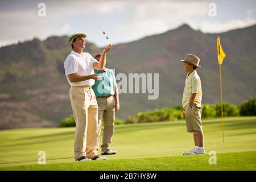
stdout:
<svg viewBox="0 0 256 182">
<path fill-rule="evenodd" d="M 171 108 L 156 109 L 149 112 L 139 112 L 127 119 L 126 121 L 115 118 L 115 125 L 123 125 L 129 123 L 150 123 L 160 121 L 177 121 L 185 119 L 182 114 L 183 107 L 175 106 Z M 237 115 L 256 115 L 256 97 L 243 102 L 240 106 L 223 103 L 223 116 L 237 116 Z M 203 105 L 202 118 L 215 118 L 221 117 L 221 105 Z M 59 127 L 72 127 L 76 126 L 73 115 L 63 119 Z"/>
</svg>

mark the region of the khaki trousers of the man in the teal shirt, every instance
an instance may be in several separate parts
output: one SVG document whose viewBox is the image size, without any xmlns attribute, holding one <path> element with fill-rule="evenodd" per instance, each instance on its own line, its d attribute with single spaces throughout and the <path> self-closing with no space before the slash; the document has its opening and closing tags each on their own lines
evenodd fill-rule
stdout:
<svg viewBox="0 0 256 182">
<path fill-rule="evenodd" d="M 112 137 L 114 134 L 115 98 L 114 96 L 110 96 L 108 98 L 98 97 L 96 99 L 98 103 L 97 149 L 100 146 L 101 122 L 103 118 L 104 130 L 103 130 L 101 152 L 104 152 L 109 149 L 109 146 L 112 143 Z"/>
</svg>

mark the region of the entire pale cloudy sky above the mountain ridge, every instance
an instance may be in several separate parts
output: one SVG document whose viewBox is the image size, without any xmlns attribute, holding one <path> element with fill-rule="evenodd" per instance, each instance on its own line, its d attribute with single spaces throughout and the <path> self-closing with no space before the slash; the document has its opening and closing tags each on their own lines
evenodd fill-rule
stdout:
<svg viewBox="0 0 256 182">
<path fill-rule="evenodd" d="M 45 17 L 38 16 L 41 2 L 46 5 Z M 217 16 L 209 16 L 210 3 L 216 4 Z M 255 0 L 1 0 L 0 46 L 76 32 L 85 32 L 90 42 L 104 46 L 160 34 L 184 23 L 202 32 L 223 32 L 251 26 L 255 17 Z"/>
</svg>

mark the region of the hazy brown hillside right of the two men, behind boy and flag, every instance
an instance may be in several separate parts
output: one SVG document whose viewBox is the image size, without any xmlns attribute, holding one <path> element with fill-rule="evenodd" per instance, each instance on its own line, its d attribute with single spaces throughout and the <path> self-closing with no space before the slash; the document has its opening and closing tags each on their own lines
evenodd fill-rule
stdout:
<svg viewBox="0 0 256 182">
<path fill-rule="evenodd" d="M 122 103 L 125 113 L 120 115 L 180 105 L 186 75 L 180 60 L 187 53 L 200 57 L 202 68 L 197 72 L 202 80 L 203 103 L 220 102 L 218 35 L 227 55 L 222 64 L 224 101 L 239 104 L 253 98 L 256 93 L 256 26 L 223 34 L 203 34 L 184 24 L 164 34 L 119 44 L 109 53 L 110 64 L 120 72 L 159 73 L 159 99 L 150 101 L 140 94 L 125 94 L 122 96 L 123 101 L 127 101 Z"/>
</svg>

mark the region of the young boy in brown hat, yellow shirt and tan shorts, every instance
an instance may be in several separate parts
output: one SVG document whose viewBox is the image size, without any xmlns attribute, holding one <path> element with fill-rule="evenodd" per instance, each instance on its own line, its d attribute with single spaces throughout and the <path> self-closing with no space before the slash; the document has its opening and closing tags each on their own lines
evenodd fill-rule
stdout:
<svg viewBox="0 0 256 182">
<path fill-rule="evenodd" d="M 193 133 L 195 147 L 183 155 L 205 154 L 204 150 L 204 134 L 202 130 L 201 114 L 202 114 L 202 89 L 201 80 L 197 75 L 196 68 L 200 68 L 199 57 L 188 54 L 185 56 L 183 68 L 188 75 L 185 80 L 185 87 L 182 97 L 183 110 L 185 114 L 187 131 Z"/>
</svg>

